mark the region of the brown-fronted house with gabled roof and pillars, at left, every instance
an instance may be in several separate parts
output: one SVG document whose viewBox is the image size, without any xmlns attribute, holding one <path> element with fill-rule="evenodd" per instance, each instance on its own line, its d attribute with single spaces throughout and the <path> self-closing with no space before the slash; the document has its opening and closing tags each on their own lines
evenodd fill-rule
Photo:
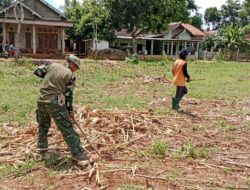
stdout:
<svg viewBox="0 0 250 190">
<path fill-rule="evenodd" d="M 0 11 L 0 39 L 6 44 L 16 43 L 17 21 L 13 3 Z M 20 49 L 24 53 L 65 53 L 65 28 L 72 27 L 66 17 L 44 0 L 22 0 L 24 21 L 21 27 Z M 20 16 L 20 13 L 18 13 Z M 68 47 L 69 48 L 69 47 Z"/>
</svg>

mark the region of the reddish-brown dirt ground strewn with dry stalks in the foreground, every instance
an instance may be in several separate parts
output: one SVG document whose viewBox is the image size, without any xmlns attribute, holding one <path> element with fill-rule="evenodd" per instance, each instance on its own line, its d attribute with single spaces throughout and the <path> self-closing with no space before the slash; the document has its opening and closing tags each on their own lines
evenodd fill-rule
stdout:
<svg viewBox="0 0 250 190">
<path fill-rule="evenodd" d="M 146 112 L 79 106 L 78 122 L 102 160 L 87 168 L 72 163 L 53 126 L 48 155 L 60 154 L 59 162 L 48 166 L 43 160 L 35 169 L 9 175 L 0 181 L 0 189 L 250 188 L 249 100 L 183 99 L 182 112 L 167 114 L 154 112 L 159 105 L 171 107 L 171 102 L 155 100 Z M 8 127 L 14 128 L 5 126 L 2 138 L 8 143 L 1 147 L 0 162 L 15 165 L 27 157 L 37 159 L 36 125 L 16 129 L 12 134 Z M 94 153 L 77 131 L 86 149 Z M 153 142 L 167 144 L 164 156 L 149 151 Z M 53 170 L 57 171 L 55 175 Z"/>
</svg>

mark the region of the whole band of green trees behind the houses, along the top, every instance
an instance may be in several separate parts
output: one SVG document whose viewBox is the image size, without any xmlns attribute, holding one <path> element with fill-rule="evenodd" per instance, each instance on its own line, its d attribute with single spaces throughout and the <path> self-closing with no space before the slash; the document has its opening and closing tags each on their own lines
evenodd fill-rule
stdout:
<svg viewBox="0 0 250 190">
<path fill-rule="evenodd" d="M 13 0 L 1 0 L 0 10 Z M 116 31 L 125 29 L 133 42 L 143 33 L 160 33 L 171 22 L 190 23 L 207 30 L 218 30 L 207 36 L 205 49 L 238 49 L 249 45 L 250 0 L 227 0 L 220 9 L 207 8 L 202 18 L 194 0 L 64 0 L 60 9 L 74 25 L 66 33 L 72 40 L 98 38 L 112 40 Z"/>
</svg>

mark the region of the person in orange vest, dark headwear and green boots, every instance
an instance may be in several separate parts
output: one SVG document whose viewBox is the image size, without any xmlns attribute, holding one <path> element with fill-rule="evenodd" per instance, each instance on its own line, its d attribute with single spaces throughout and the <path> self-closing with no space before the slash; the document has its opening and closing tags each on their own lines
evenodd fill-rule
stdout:
<svg viewBox="0 0 250 190">
<path fill-rule="evenodd" d="M 187 71 L 186 58 L 188 51 L 183 49 L 179 53 L 179 59 L 175 61 L 172 73 L 174 75 L 173 84 L 176 86 L 175 97 L 172 98 L 172 108 L 178 110 L 180 108 L 179 103 L 183 96 L 188 93 L 188 89 L 185 86 L 186 81 L 190 82 L 190 76 Z"/>
</svg>

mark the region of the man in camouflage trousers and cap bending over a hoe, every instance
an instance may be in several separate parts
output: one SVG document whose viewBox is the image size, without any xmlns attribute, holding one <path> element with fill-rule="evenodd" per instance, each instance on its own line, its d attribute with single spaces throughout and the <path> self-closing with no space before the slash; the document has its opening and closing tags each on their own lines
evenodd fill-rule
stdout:
<svg viewBox="0 0 250 190">
<path fill-rule="evenodd" d="M 48 148 L 48 131 L 53 118 L 73 158 L 80 161 L 88 159 L 72 124 L 75 122 L 72 103 L 76 80 L 73 73 L 78 69 L 80 59 L 70 55 L 66 65 L 47 62 L 34 72 L 43 78 L 36 110 L 40 153 L 46 152 Z"/>
</svg>

